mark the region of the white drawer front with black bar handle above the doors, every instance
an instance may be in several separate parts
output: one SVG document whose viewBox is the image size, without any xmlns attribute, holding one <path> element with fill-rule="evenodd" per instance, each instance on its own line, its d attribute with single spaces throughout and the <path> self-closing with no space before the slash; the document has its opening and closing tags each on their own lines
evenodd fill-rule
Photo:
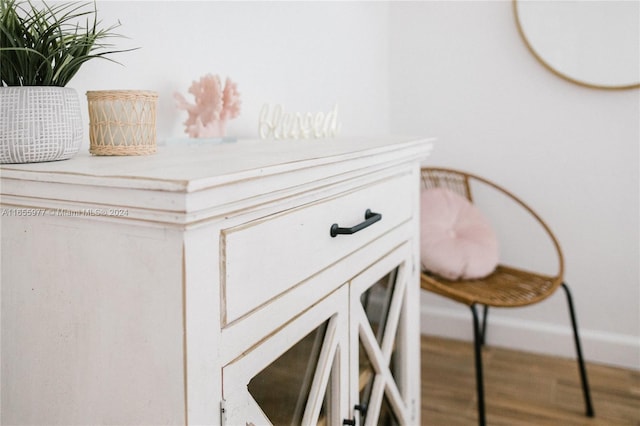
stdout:
<svg viewBox="0 0 640 426">
<path fill-rule="evenodd" d="M 412 175 L 397 175 L 223 230 L 223 324 L 246 315 L 408 220 L 414 187 Z M 367 209 L 379 213 L 381 219 L 351 235 L 330 235 L 333 224 L 350 228 L 364 222 Z"/>
</svg>

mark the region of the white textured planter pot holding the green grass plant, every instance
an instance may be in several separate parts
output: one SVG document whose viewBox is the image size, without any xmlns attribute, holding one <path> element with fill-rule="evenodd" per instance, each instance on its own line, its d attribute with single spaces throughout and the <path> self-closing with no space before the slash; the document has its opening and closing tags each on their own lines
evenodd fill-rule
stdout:
<svg viewBox="0 0 640 426">
<path fill-rule="evenodd" d="M 75 89 L 0 87 L 0 163 L 66 160 L 81 144 Z"/>
</svg>

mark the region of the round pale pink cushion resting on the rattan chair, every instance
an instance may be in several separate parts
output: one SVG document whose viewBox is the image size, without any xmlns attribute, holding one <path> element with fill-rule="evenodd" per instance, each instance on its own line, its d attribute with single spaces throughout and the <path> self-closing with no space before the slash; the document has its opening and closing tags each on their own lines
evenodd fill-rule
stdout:
<svg viewBox="0 0 640 426">
<path fill-rule="evenodd" d="M 498 240 L 489 222 L 465 197 L 443 189 L 421 194 L 422 267 L 450 280 L 476 279 L 498 265 Z"/>
</svg>

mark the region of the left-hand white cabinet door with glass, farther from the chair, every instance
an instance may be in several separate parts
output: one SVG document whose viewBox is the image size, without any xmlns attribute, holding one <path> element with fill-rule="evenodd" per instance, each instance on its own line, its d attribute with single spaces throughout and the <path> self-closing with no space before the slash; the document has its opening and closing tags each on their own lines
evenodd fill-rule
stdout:
<svg viewBox="0 0 640 426">
<path fill-rule="evenodd" d="M 348 296 L 340 287 L 224 367 L 222 424 L 342 424 Z"/>
</svg>

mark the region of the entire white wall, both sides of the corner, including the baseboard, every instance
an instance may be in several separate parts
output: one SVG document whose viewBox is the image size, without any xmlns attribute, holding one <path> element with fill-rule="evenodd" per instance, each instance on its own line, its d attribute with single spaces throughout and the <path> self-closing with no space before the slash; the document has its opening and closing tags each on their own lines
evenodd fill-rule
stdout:
<svg viewBox="0 0 640 426">
<path fill-rule="evenodd" d="M 70 86 L 160 94 L 159 140 L 183 135 L 172 94 L 206 73 L 242 95 L 229 134 L 256 137 L 264 103 L 340 107 L 342 135 L 439 139 L 430 164 L 486 175 L 535 206 L 566 256 L 586 357 L 640 368 L 640 91 L 568 83 L 526 50 L 511 2 L 112 2 L 140 50 Z M 88 118 L 85 112 L 85 122 Z M 88 147 L 88 142 L 87 142 Z M 463 307 L 424 295 L 423 330 L 470 338 Z M 562 294 L 493 312 L 492 344 L 572 355 Z"/>
</svg>

